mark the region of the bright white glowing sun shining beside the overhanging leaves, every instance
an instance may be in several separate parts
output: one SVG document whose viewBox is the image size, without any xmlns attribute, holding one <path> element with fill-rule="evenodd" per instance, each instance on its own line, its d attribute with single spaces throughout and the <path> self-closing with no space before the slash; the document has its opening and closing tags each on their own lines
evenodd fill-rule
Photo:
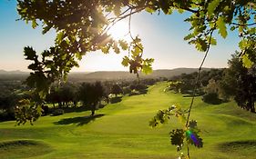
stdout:
<svg viewBox="0 0 256 159">
<path fill-rule="evenodd" d="M 124 39 L 128 40 L 128 23 L 125 21 L 119 21 L 115 25 L 111 26 L 108 30 L 108 34 L 114 39 Z"/>
</svg>

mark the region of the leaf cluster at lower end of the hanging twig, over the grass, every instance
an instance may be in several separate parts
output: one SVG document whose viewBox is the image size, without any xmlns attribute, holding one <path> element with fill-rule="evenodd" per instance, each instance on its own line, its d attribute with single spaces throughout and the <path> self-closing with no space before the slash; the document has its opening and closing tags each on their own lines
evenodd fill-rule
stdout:
<svg viewBox="0 0 256 159">
<path fill-rule="evenodd" d="M 158 114 L 149 121 L 149 125 L 156 127 L 159 124 L 165 124 L 170 120 L 171 116 L 175 116 L 179 118 L 183 128 L 173 129 L 169 132 L 170 143 L 177 146 L 178 152 L 181 151 L 185 142 L 188 146 L 192 144 L 201 148 L 203 143 L 200 138 L 200 129 L 198 128 L 197 122 L 194 120 L 190 120 L 189 123 L 187 123 L 186 114 L 188 113 L 188 110 L 182 110 L 180 106 L 172 105 L 168 109 L 159 110 Z"/>
</svg>

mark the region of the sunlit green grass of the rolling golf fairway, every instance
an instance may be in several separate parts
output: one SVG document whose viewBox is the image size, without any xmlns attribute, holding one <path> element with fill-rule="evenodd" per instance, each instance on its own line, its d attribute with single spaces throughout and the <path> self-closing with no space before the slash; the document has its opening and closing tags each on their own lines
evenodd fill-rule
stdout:
<svg viewBox="0 0 256 159">
<path fill-rule="evenodd" d="M 0 158 L 175 158 L 176 148 L 169 144 L 169 131 L 179 126 L 176 119 L 159 128 L 148 126 L 149 119 L 159 109 L 170 104 L 189 106 L 189 97 L 165 93 L 166 86 L 167 83 L 156 84 L 148 88 L 148 94 L 123 97 L 120 103 L 108 104 L 97 111 L 94 118 L 87 117 L 90 112 L 79 112 L 41 117 L 33 126 L 0 123 L 2 144 L 36 141 L 41 152 L 46 152 L 36 149 L 37 153 L 21 153 L 0 146 Z M 211 105 L 197 97 L 191 119 L 199 122 L 204 141 L 202 149 L 191 147 L 192 158 L 255 158 L 256 114 L 241 110 L 233 102 Z"/>
</svg>

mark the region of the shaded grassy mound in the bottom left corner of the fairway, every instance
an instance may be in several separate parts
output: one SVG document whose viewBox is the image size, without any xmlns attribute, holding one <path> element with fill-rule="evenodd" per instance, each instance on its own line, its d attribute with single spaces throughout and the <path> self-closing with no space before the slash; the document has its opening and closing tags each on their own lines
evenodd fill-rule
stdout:
<svg viewBox="0 0 256 159">
<path fill-rule="evenodd" d="M 34 140 L 15 140 L 0 143 L 0 158 L 26 158 L 52 152 L 53 149 Z"/>
</svg>

